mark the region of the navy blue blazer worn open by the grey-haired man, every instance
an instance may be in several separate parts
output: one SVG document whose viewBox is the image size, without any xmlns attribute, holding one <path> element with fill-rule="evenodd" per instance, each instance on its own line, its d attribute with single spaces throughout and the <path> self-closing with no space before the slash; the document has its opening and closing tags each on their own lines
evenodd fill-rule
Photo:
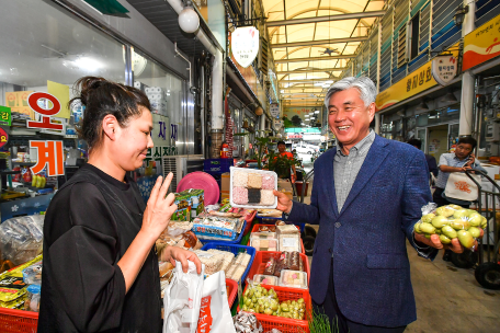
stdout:
<svg viewBox="0 0 500 333">
<path fill-rule="evenodd" d="M 319 223 L 310 295 L 316 303 L 325 301 L 333 259 L 342 314 L 365 325 L 407 325 L 417 319 L 417 311 L 406 239 L 418 249 L 413 225 L 422 216 L 421 207 L 432 200 L 425 157 L 410 145 L 376 136 L 338 211 L 336 153 L 333 148 L 316 160 L 310 205 L 294 202 L 287 219 Z M 438 253 L 427 250 L 420 254 L 433 259 Z"/>
</svg>

